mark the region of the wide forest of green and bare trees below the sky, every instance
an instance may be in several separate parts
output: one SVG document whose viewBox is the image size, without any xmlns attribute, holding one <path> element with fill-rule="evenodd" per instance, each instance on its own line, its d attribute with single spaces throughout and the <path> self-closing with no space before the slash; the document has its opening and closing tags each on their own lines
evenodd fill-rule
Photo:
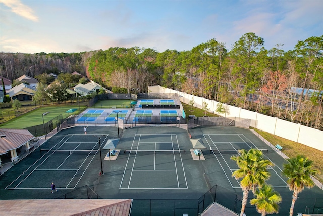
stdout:
<svg viewBox="0 0 323 216">
<path fill-rule="evenodd" d="M 323 35 L 270 50 L 246 33 L 230 49 L 210 39 L 189 51 L 111 47 L 81 53 L 0 53 L 0 76 L 86 75 L 108 89 L 181 92 L 323 129 Z M 296 91 L 298 88 L 298 91 Z"/>
</svg>

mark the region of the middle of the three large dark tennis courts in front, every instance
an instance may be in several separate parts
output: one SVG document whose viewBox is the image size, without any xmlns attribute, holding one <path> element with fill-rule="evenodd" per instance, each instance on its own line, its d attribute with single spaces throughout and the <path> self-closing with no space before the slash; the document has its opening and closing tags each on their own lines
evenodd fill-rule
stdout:
<svg viewBox="0 0 323 216">
<path fill-rule="evenodd" d="M 120 189 L 187 189 L 176 134 L 136 134 Z"/>
</svg>

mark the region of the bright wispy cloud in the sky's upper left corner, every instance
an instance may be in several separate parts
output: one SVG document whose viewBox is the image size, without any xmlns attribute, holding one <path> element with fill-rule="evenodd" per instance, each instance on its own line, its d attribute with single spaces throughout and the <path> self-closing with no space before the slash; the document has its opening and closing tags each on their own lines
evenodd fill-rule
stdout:
<svg viewBox="0 0 323 216">
<path fill-rule="evenodd" d="M 20 0 L 0 0 L 0 3 L 6 5 L 15 14 L 38 22 L 38 17 L 34 15 L 33 10 L 28 6 L 22 4 Z"/>
</svg>

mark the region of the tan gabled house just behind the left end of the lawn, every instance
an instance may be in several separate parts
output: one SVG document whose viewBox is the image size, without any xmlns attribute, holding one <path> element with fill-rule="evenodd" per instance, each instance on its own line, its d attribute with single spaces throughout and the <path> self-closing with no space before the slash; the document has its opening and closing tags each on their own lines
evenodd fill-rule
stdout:
<svg viewBox="0 0 323 216">
<path fill-rule="evenodd" d="M 19 101 L 28 101 L 32 100 L 35 92 L 36 88 L 33 88 L 25 83 L 21 83 L 20 85 L 17 85 L 9 90 L 9 97 L 11 101 L 14 99 L 18 99 Z"/>
</svg>

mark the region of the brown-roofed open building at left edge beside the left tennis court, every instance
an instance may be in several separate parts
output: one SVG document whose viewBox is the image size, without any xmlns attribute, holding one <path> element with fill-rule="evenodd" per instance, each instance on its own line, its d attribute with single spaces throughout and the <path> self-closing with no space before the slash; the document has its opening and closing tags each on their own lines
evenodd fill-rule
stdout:
<svg viewBox="0 0 323 216">
<path fill-rule="evenodd" d="M 17 161 L 22 146 L 29 151 L 29 143 L 34 138 L 27 129 L 0 129 L 0 167 L 2 160 L 5 161 L 7 157 L 10 157 L 11 162 Z"/>
</svg>

